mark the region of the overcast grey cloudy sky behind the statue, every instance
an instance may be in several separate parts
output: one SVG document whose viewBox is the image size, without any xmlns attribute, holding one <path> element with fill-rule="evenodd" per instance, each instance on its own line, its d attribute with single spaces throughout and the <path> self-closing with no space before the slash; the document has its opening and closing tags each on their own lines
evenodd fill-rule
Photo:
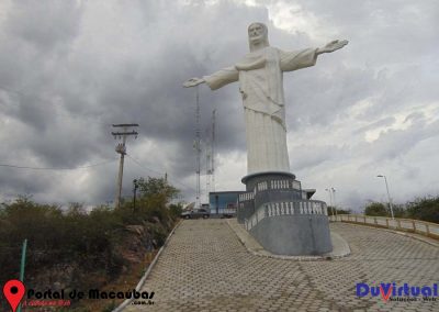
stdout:
<svg viewBox="0 0 439 312">
<path fill-rule="evenodd" d="M 1 0 L 0 200 L 113 201 L 115 123 L 139 124 L 127 140 L 125 196 L 134 178 L 167 172 L 193 200 L 195 94 L 181 85 L 246 54 L 254 21 L 283 49 L 349 41 L 284 75 L 290 161 L 303 187 L 325 201 L 334 187 L 337 204 L 358 210 L 386 201 L 380 174 L 395 202 L 439 193 L 437 0 Z M 216 190 L 244 190 L 237 83 L 202 86 L 200 103 L 203 146 L 216 109 Z"/>
</svg>

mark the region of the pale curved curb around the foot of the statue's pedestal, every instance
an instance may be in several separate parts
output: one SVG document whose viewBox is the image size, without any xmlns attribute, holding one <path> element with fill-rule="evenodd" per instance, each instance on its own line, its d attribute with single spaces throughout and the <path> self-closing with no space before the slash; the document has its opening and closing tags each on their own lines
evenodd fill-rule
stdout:
<svg viewBox="0 0 439 312">
<path fill-rule="evenodd" d="M 249 244 L 246 242 L 246 235 L 249 235 L 251 238 L 252 236 L 246 231 L 245 234 L 243 233 L 238 233 L 238 231 L 235 230 L 234 225 L 230 224 L 232 221 L 227 220 L 227 224 L 228 226 L 232 229 L 232 231 L 235 233 L 235 235 L 238 237 L 238 241 L 246 247 L 247 252 L 249 252 L 250 254 L 258 256 L 258 257 L 266 257 L 266 258 L 273 258 L 273 259 L 282 259 L 282 260 L 293 260 L 293 261 L 322 261 L 322 260 L 331 260 L 331 259 L 337 259 L 337 258 L 342 258 L 342 257 L 347 257 L 350 255 L 350 247 L 349 244 L 338 234 L 338 233 L 331 233 L 331 236 L 334 235 L 336 239 L 339 241 L 339 243 L 341 244 L 341 252 L 338 252 L 338 254 L 333 254 L 328 253 L 328 254 L 324 254 L 322 256 L 286 256 L 286 255 L 274 255 L 271 254 L 270 252 L 263 249 L 262 246 L 259 245 L 257 248 L 252 248 L 251 246 L 249 246 Z M 238 224 L 238 226 L 240 226 Z M 252 238 L 255 242 L 256 239 Z M 333 241 L 333 239 L 331 239 Z"/>
</svg>

